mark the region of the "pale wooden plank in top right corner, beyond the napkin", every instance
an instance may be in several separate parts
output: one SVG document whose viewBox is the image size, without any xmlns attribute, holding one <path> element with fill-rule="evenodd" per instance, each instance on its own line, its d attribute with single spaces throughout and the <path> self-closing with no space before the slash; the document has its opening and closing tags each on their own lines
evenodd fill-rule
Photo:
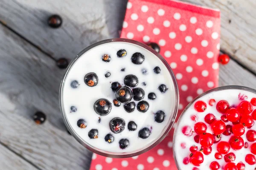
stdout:
<svg viewBox="0 0 256 170">
<path fill-rule="evenodd" d="M 221 50 L 256 74 L 255 0 L 182 0 L 221 11 Z"/>
</svg>

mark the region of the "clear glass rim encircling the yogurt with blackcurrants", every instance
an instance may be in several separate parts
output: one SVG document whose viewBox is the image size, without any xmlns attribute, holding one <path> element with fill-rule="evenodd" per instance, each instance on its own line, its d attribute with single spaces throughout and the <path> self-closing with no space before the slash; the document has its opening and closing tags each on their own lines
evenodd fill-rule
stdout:
<svg viewBox="0 0 256 170">
<path fill-rule="evenodd" d="M 150 143 L 148 144 L 146 147 L 143 147 L 140 150 L 137 150 L 133 153 L 111 153 L 105 150 L 100 150 L 97 149 L 96 147 L 93 147 L 92 145 L 88 144 L 84 139 L 82 139 L 76 132 L 75 130 L 73 130 L 73 128 L 71 127 L 69 121 L 67 120 L 67 116 L 63 107 L 63 90 L 64 90 L 64 84 L 67 78 L 67 75 L 70 71 L 70 69 L 72 68 L 72 66 L 74 65 L 74 63 L 87 51 L 89 51 L 92 48 L 95 48 L 98 45 L 102 45 L 105 43 L 109 43 L 109 42 L 128 42 L 128 43 L 132 43 L 135 45 L 139 45 L 140 47 L 145 48 L 146 50 L 150 51 L 151 53 L 153 53 L 156 57 L 158 57 L 161 62 L 163 62 L 163 64 L 166 66 L 167 70 L 169 71 L 170 76 L 172 77 L 172 82 L 173 82 L 173 86 L 174 86 L 174 91 L 175 91 L 175 99 L 174 99 L 174 108 L 172 109 L 172 115 L 169 118 L 169 122 L 165 127 L 165 131 L 164 133 L 162 132 L 162 135 L 160 137 L 158 137 L 158 139 L 154 142 L 154 143 Z M 130 40 L 130 39 L 124 39 L 124 38 L 112 38 L 112 39 L 107 39 L 107 40 L 102 40 L 99 42 L 96 42 L 92 45 L 89 45 L 87 48 L 84 48 L 79 54 L 76 55 L 76 57 L 74 59 L 72 59 L 72 61 L 70 62 L 70 64 L 67 66 L 66 71 L 64 72 L 64 76 L 61 79 L 61 85 L 60 85 L 60 90 L 59 90 L 59 106 L 60 106 L 60 110 L 61 110 L 61 114 L 62 114 L 62 118 L 64 120 L 64 124 L 66 125 L 67 129 L 69 130 L 69 132 L 71 133 L 71 135 L 84 147 L 86 147 L 88 150 L 92 151 L 93 153 L 99 154 L 101 156 L 106 156 L 106 157 L 111 157 L 111 158 L 128 158 L 128 157 L 132 157 L 132 156 L 137 156 L 140 155 L 142 153 L 147 152 L 148 150 L 151 150 L 153 147 L 155 147 L 157 144 L 159 144 L 161 141 L 163 141 L 163 139 L 166 137 L 166 135 L 169 133 L 169 131 L 172 129 L 172 125 L 175 122 L 176 116 L 177 116 L 177 111 L 178 111 L 178 105 L 179 105 L 179 90 L 178 90 L 178 85 L 177 85 L 177 81 L 175 79 L 175 75 L 170 67 L 170 65 L 166 62 L 166 60 L 154 49 L 150 48 L 148 45 L 145 45 L 141 42 L 135 41 L 135 40 Z M 95 149 L 96 148 L 96 149 Z"/>
</svg>

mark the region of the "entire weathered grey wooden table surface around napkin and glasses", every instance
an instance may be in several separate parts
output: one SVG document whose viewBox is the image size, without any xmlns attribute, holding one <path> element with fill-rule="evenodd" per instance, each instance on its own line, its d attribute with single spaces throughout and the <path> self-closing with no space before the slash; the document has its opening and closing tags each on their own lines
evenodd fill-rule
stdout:
<svg viewBox="0 0 256 170">
<path fill-rule="evenodd" d="M 219 85 L 256 88 L 256 1 L 184 0 L 221 10 Z M 88 170 L 92 153 L 70 136 L 58 90 L 64 70 L 87 45 L 119 37 L 127 0 L 0 0 L 0 170 Z M 97 10 L 95 10 L 97 8 Z M 61 28 L 47 26 L 60 14 Z M 35 111 L 47 114 L 35 125 Z"/>
</svg>

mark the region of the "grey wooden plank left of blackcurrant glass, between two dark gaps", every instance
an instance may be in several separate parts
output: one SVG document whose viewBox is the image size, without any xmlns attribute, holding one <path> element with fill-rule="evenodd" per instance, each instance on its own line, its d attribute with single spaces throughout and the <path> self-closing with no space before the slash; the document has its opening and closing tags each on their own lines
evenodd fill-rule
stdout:
<svg viewBox="0 0 256 170">
<path fill-rule="evenodd" d="M 89 169 L 91 152 L 64 130 L 59 111 L 64 71 L 2 25 L 0 61 L 0 142 L 40 169 Z M 37 110 L 47 114 L 43 125 L 32 120 Z"/>
</svg>

